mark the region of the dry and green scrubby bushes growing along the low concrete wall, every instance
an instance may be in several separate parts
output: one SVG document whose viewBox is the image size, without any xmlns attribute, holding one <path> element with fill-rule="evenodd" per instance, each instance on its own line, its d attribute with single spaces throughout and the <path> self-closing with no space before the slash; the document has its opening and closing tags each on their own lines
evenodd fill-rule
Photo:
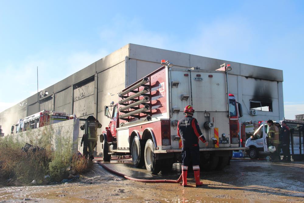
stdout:
<svg viewBox="0 0 304 203">
<path fill-rule="evenodd" d="M 71 167 L 77 173 L 87 171 L 93 164 L 84 157 L 73 156 L 71 132 L 68 129 L 55 133 L 49 125 L 38 132 L 27 130 L 16 138 L 0 137 L 0 185 L 26 185 L 33 180 L 42 184 L 45 175 L 60 182 L 68 177 Z M 26 142 L 44 150 L 24 152 L 21 148 Z"/>
</svg>

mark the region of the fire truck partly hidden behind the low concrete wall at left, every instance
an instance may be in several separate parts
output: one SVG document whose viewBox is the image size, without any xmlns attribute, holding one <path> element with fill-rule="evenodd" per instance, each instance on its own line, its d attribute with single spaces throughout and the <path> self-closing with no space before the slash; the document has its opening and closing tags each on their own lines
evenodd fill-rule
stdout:
<svg viewBox="0 0 304 203">
<path fill-rule="evenodd" d="M 72 116 L 73 118 L 73 116 Z M 70 119 L 70 116 L 65 112 L 53 112 L 53 111 L 40 111 L 31 116 L 27 116 L 24 119 L 19 119 L 16 126 L 15 133 L 20 133 L 26 130 L 32 130 L 49 124 L 58 123 Z M 11 134 L 14 133 L 14 126 L 12 126 Z"/>
</svg>

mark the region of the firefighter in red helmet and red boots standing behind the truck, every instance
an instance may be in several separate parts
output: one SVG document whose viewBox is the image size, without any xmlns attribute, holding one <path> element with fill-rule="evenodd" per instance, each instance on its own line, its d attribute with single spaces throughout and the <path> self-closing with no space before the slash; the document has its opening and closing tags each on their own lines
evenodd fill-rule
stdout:
<svg viewBox="0 0 304 203">
<path fill-rule="evenodd" d="M 187 171 L 190 162 L 192 161 L 194 178 L 196 187 L 203 185 L 200 181 L 200 151 L 198 145 L 198 139 L 208 146 L 208 142 L 203 136 L 200 127 L 198 126 L 197 120 L 193 118 L 194 109 L 191 105 L 187 105 L 184 109 L 185 117 L 178 122 L 177 135 L 182 140 L 182 177 L 183 187 L 187 187 Z"/>
</svg>

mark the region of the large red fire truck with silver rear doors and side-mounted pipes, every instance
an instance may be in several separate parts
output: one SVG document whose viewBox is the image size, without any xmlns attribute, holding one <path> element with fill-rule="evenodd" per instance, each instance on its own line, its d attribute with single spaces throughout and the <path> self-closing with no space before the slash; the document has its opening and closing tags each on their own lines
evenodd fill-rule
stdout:
<svg viewBox="0 0 304 203">
<path fill-rule="evenodd" d="M 236 113 L 236 109 L 229 110 L 233 96 L 228 94 L 227 70 L 231 67 L 225 66 L 225 71 L 174 69 L 164 60 L 162 65 L 119 92 L 117 104 L 105 106 L 105 116 L 111 121 L 100 135 L 103 160 L 110 161 L 111 155 L 132 155 L 136 167 L 145 165 L 152 174 L 171 170 L 181 159 L 177 123 L 184 116 L 184 107 L 192 105 L 209 142 L 208 147 L 199 142 L 201 167 L 225 167 L 233 150 L 245 149 L 229 129 L 230 118 Z M 231 130 L 237 131 L 234 127 Z"/>
</svg>

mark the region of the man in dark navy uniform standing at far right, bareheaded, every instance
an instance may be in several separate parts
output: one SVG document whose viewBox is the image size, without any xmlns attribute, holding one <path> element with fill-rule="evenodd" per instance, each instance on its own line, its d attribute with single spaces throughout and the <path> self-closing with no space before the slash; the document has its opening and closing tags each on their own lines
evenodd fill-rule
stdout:
<svg viewBox="0 0 304 203">
<path fill-rule="evenodd" d="M 290 162 L 290 130 L 286 125 L 285 121 L 282 121 L 282 128 L 280 130 L 280 136 L 282 137 L 282 150 L 283 150 L 283 161 Z"/>
</svg>

